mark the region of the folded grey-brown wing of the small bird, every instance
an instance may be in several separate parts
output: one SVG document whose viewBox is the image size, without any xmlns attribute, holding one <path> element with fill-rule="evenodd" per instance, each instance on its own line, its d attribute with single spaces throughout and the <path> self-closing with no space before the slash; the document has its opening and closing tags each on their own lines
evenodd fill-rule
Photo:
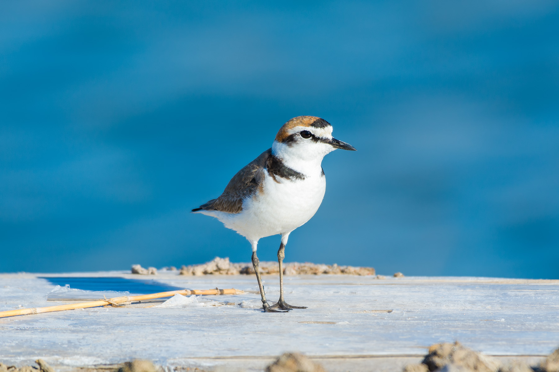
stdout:
<svg viewBox="0 0 559 372">
<path fill-rule="evenodd" d="M 243 200 L 245 197 L 254 194 L 258 185 L 264 180 L 266 165 L 271 155 L 271 148 L 264 151 L 231 178 L 223 194 L 192 211 L 217 210 L 228 213 L 240 213 L 243 210 Z"/>
</svg>

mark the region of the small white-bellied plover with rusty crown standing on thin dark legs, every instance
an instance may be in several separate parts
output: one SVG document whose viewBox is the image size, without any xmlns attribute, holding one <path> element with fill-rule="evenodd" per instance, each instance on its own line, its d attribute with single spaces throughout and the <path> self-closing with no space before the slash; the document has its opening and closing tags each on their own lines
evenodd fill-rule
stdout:
<svg viewBox="0 0 559 372">
<path fill-rule="evenodd" d="M 285 245 L 291 231 L 305 224 L 318 210 L 326 191 L 321 162 L 337 148 L 355 151 L 350 144 L 332 137 L 332 126 L 326 120 L 313 116 L 293 118 L 280 128 L 272 148 L 231 178 L 223 194 L 192 210 L 217 218 L 226 228 L 250 241 L 265 312 L 306 308 L 288 305 L 283 299 Z M 270 306 L 260 278 L 256 249 L 260 238 L 276 234 L 281 234 L 280 300 Z"/>
</svg>

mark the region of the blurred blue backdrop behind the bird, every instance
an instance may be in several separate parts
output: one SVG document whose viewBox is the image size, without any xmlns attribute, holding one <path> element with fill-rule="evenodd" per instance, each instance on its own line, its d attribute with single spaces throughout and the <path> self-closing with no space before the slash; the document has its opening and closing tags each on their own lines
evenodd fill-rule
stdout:
<svg viewBox="0 0 559 372">
<path fill-rule="evenodd" d="M 287 262 L 559 278 L 555 1 L 0 7 L 0 272 L 248 262 L 190 209 L 315 115 L 358 151 Z"/>
</svg>

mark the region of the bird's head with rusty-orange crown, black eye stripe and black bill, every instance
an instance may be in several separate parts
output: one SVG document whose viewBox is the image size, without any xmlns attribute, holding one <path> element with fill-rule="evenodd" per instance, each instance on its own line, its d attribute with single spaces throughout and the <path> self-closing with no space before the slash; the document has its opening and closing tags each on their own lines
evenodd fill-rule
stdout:
<svg viewBox="0 0 559 372">
<path fill-rule="evenodd" d="M 272 146 L 274 154 L 301 160 L 322 160 L 337 148 L 356 151 L 332 137 L 332 125 L 314 116 L 298 116 L 283 124 Z"/>
</svg>

